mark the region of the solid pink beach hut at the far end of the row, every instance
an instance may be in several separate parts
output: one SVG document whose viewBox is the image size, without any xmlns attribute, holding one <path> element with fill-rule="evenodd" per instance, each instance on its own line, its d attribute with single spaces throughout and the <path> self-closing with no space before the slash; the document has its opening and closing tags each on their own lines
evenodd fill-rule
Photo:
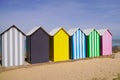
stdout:
<svg viewBox="0 0 120 80">
<path fill-rule="evenodd" d="M 101 55 L 112 54 L 112 34 L 109 29 L 97 30 L 100 34 L 100 53 Z"/>
</svg>

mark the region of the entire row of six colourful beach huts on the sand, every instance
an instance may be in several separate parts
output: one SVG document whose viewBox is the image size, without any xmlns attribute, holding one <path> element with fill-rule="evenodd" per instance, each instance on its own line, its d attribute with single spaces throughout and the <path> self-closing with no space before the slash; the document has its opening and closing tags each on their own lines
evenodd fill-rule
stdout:
<svg viewBox="0 0 120 80">
<path fill-rule="evenodd" d="M 66 61 L 112 54 L 112 34 L 108 29 L 55 28 L 50 33 L 36 27 L 27 34 L 15 25 L 0 34 L 3 67 Z"/>
</svg>

